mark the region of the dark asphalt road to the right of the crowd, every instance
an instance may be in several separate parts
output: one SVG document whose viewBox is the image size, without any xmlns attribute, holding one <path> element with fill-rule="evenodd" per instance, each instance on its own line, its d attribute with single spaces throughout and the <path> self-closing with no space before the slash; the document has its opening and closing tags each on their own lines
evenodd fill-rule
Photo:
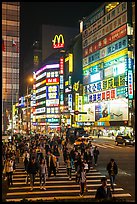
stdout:
<svg viewBox="0 0 137 204">
<path fill-rule="evenodd" d="M 100 155 L 96 169 L 108 176 L 106 165 L 111 158 L 114 158 L 119 169 L 116 183 L 118 186 L 121 186 L 126 193 L 131 194 L 130 202 L 135 202 L 135 147 L 123 145 L 115 146 L 114 140 L 104 138 L 95 138 L 94 143 L 100 145 Z M 106 148 L 103 148 L 103 146 Z"/>
</svg>

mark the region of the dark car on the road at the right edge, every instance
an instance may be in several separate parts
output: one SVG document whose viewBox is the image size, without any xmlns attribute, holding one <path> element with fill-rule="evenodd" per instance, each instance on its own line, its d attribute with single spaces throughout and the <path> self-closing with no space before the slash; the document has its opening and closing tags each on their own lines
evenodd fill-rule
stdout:
<svg viewBox="0 0 137 204">
<path fill-rule="evenodd" d="M 117 135 L 115 139 L 115 144 L 123 144 L 123 145 L 133 145 L 135 144 L 135 140 L 128 135 Z"/>
</svg>

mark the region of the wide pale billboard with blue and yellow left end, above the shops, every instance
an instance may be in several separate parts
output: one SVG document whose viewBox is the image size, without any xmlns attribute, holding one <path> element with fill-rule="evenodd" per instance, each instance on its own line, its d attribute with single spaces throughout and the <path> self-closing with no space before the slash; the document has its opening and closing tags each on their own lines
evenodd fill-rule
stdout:
<svg viewBox="0 0 137 204">
<path fill-rule="evenodd" d="M 128 120 L 128 99 L 121 98 L 96 103 L 95 121 L 125 121 Z"/>
</svg>

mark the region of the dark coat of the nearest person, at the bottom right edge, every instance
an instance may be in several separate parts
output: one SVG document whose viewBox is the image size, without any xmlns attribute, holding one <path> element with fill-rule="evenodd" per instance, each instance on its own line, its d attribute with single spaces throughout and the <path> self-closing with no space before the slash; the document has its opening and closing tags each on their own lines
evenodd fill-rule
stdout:
<svg viewBox="0 0 137 204">
<path fill-rule="evenodd" d="M 108 198 L 112 198 L 112 194 L 110 191 L 110 188 L 107 187 L 107 192 L 105 191 L 105 189 L 103 188 L 103 186 L 100 186 L 97 191 L 96 191 L 96 195 L 95 195 L 96 199 L 108 199 Z"/>
</svg>

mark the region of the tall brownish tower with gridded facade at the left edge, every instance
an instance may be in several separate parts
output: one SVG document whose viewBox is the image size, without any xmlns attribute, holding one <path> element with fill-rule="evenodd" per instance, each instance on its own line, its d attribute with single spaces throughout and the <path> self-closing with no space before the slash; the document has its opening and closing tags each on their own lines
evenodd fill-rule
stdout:
<svg viewBox="0 0 137 204">
<path fill-rule="evenodd" d="M 19 96 L 20 2 L 2 2 L 2 131 L 12 129 Z"/>
</svg>

